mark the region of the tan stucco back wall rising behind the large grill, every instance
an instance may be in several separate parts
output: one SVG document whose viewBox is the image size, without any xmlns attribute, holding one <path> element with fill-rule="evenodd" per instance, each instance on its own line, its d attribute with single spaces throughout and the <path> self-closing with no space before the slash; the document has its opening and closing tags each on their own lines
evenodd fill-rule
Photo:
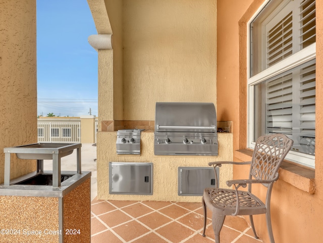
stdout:
<svg viewBox="0 0 323 243">
<path fill-rule="evenodd" d="M 215 0 L 123 1 L 124 119 L 156 102 L 217 104 Z"/>
</svg>

